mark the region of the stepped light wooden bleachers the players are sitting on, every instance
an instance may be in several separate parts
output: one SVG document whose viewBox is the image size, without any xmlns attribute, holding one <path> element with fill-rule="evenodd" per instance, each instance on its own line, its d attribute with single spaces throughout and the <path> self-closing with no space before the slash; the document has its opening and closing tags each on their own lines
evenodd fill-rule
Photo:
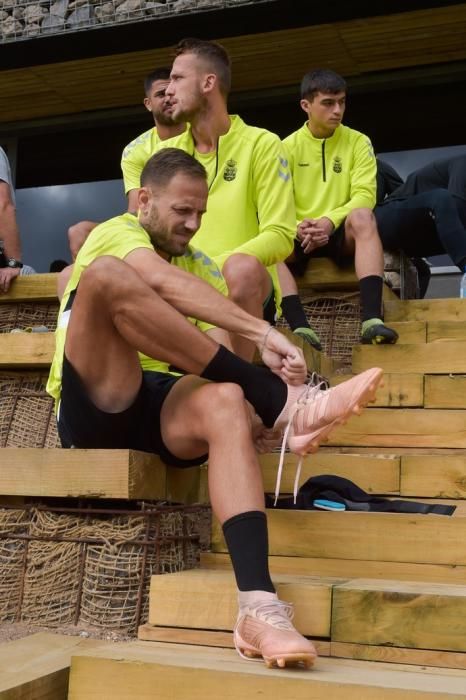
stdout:
<svg viewBox="0 0 466 700">
<path fill-rule="evenodd" d="M 342 283 L 322 263 L 327 288 L 352 288 L 354 275 Z M 305 289 L 320 292 L 313 274 Z M 53 299 L 50 275 L 15 284 L 0 304 Z M 234 579 L 214 522 L 199 570 L 152 578 L 139 641 L 66 647 L 56 652 L 53 668 L 51 650 L 62 648 L 57 635 L 4 645 L 7 656 L 0 658 L 23 655 L 32 668 L 24 681 L 28 697 L 126 700 L 154 697 L 154 689 L 167 700 L 466 697 L 466 305 L 400 302 L 388 292 L 385 315 L 399 343 L 356 346 L 352 364 L 353 371 L 383 367 L 385 386 L 361 417 L 305 459 L 301 482 L 332 473 L 373 494 L 452 503 L 456 511 L 451 517 L 268 512 L 271 570 L 279 595 L 296 604 L 298 629 L 316 641 L 316 670 L 271 671 L 233 651 Z M 52 341 L 48 334 L 0 335 L 0 364 L 13 371 L 45 368 Z M 292 489 L 294 460 L 286 458 L 283 493 Z M 206 499 L 205 468 L 181 473 L 132 451 L 2 448 L 0 463 L 5 497 Z M 265 489 L 273 491 L 277 455 L 262 456 L 261 464 Z M 0 698 L 26 697 L 12 695 L 21 683 L 11 663 L 0 662 Z"/>
</svg>

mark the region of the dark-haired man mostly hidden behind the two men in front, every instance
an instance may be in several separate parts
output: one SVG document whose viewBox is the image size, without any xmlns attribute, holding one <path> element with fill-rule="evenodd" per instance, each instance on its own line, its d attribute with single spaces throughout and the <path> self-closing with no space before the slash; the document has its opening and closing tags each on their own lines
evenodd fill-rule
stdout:
<svg viewBox="0 0 466 700">
<path fill-rule="evenodd" d="M 121 169 L 128 197 L 128 211 L 137 212 L 137 192 L 140 187 L 141 172 L 146 161 L 154 153 L 160 141 L 170 139 L 185 130 L 184 124 L 175 124 L 170 115 L 170 107 L 165 90 L 170 82 L 170 68 L 156 68 L 144 78 L 144 106 L 152 114 L 154 126 L 137 136 L 123 150 Z M 73 260 L 92 229 L 95 221 L 80 221 L 68 229 L 68 241 Z"/>
</svg>

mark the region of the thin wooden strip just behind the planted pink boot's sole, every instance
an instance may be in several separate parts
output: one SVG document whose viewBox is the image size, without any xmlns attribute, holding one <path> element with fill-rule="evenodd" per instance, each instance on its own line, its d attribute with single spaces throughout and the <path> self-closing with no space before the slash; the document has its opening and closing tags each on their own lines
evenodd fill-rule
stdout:
<svg viewBox="0 0 466 700">
<path fill-rule="evenodd" d="M 206 647 L 222 647 L 223 649 L 235 648 L 231 632 L 157 627 L 149 623 L 140 625 L 138 639 L 141 642 L 170 642 L 171 644 L 196 644 Z M 330 656 L 330 642 L 323 639 L 313 639 L 312 641 L 319 656 Z"/>
</svg>

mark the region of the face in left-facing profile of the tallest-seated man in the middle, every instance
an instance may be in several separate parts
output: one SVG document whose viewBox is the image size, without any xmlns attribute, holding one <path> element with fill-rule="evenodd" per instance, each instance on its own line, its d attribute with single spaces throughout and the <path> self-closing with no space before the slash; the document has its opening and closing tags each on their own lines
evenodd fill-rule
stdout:
<svg viewBox="0 0 466 700">
<path fill-rule="evenodd" d="M 202 61 L 195 54 L 186 53 L 175 58 L 166 94 L 177 124 L 192 121 L 193 116 L 203 109 L 205 97 L 202 85 L 205 75 Z"/>
</svg>

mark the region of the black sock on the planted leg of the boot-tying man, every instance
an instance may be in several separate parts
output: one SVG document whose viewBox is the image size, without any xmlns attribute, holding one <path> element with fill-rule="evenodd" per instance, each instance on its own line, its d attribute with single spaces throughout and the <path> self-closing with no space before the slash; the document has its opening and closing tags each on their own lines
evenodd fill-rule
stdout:
<svg viewBox="0 0 466 700">
<path fill-rule="evenodd" d="M 223 523 L 223 534 L 240 591 L 275 588 L 269 573 L 267 518 L 260 510 L 234 515 Z"/>
</svg>

